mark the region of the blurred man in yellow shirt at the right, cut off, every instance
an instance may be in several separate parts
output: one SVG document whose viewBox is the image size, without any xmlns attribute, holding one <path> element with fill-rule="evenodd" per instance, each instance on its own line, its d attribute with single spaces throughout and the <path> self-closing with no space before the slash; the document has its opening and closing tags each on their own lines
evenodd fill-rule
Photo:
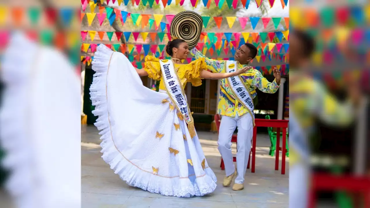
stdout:
<svg viewBox="0 0 370 208">
<path fill-rule="evenodd" d="M 307 207 L 310 176 L 310 147 L 307 138 L 313 132 L 315 119 L 329 125 L 349 125 L 353 122 L 354 106 L 360 100 L 359 86 L 350 81 L 346 86 L 348 101 L 339 103 L 326 88 L 310 77 L 309 66 L 314 41 L 302 31 L 290 33 L 289 74 L 289 207 Z"/>
</svg>

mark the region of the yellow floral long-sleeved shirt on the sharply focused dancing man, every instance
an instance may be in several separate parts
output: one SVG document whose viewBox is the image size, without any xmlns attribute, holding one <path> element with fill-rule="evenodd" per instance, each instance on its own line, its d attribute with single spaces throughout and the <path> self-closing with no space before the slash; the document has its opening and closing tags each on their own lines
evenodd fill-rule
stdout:
<svg viewBox="0 0 370 208">
<path fill-rule="evenodd" d="M 190 51 L 190 53 L 195 58 L 205 58 L 208 70 L 214 73 L 226 72 L 225 60 L 219 61 L 206 58 L 196 48 L 193 48 L 192 51 Z M 246 65 L 238 64 L 238 70 L 246 66 L 248 66 L 248 64 Z M 255 98 L 257 95 L 256 88 L 258 88 L 260 91 L 264 93 L 275 93 L 277 89 L 279 89 L 279 85 L 276 83 L 275 80 L 272 83 L 270 83 L 265 77 L 262 76 L 262 74 L 258 70 L 254 68 L 250 69 L 244 74 L 241 74 L 241 77 L 248 86 L 248 90 L 250 92 L 250 95 L 252 95 L 252 99 Z M 225 80 L 226 79 L 221 80 L 221 90 L 218 100 L 217 113 L 220 115 L 226 115 L 230 117 L 235 117 L 236 114 L 238 114 L 238 116 L 241 116 L 245 113 L 248 113 L 248 110 L 244 108 L 241 103 L 239 103 L 238 99 L 235 99 L 236 95 L 234 95 L 234 93 L 231 91 L 231 87 L 226 83 Z"/>
</svg>

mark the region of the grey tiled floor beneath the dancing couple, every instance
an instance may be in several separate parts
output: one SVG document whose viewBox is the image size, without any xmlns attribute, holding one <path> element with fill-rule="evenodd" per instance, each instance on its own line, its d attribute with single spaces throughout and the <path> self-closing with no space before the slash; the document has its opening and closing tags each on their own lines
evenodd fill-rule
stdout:
<svg viewBox="0 0 370 208">
<path fill-rule="evenodd" d="M 224 171 L 217 150 L 217 134 L 198 132 L 208 165 L 215 172 L 218 182 L 215 192 L 203 197 L 177 198 L 152 194 L 130 187 L 114 174 L 101 158 L 100 135 L 94 126 L 81 127 L 81 189 L 83 208 L 286 208 L 288 207 L 289 158 L 286 175 L 275 171 L 275 157 L 268 155 L 268 135 L 257 137 L 256 172 L 247 170 L 245 188 L 233 191 L 223 187 Z M 235 145 L 233 150 L 236 153 Z M 281 153 L 280 153 L 281 154 Z"/>
</svg>

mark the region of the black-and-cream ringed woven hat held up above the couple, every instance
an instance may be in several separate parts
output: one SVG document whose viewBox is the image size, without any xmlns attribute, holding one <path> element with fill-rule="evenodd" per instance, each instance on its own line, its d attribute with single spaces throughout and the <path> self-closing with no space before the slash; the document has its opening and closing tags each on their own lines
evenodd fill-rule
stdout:
<svg viewBox="0 0 370 208">
<path fill-rule="evenodd" d="M 194 48 L 201 37 L 203 19 L 194 11 L 182 11 L 172 19 L 171 36 L 185 40 L 189 49 Z"/>
</svg>

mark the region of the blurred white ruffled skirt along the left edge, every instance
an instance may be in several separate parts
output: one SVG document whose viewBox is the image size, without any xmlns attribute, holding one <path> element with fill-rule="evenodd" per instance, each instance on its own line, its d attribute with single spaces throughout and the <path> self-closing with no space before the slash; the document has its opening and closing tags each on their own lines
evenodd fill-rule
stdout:
<svg viewBox="0 0 370 208">
<path fill-rule="evenodd" d="M 0 72 L 2 162 L 10 170 L 6 187 L 13 204 L 80 207 L 81 105 L 74 68 L 59 51 L 15 33 Z"/>
</svg>

